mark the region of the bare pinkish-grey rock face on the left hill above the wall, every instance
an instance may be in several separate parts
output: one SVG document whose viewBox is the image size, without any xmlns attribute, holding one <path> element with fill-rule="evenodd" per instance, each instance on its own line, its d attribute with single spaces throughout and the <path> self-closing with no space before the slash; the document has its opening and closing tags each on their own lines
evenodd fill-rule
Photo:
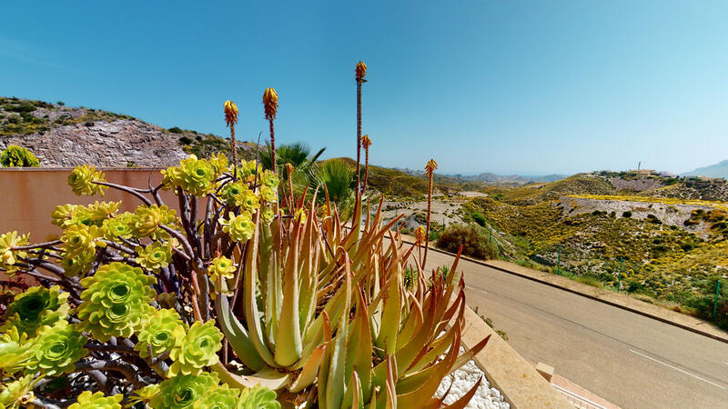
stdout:
<svg viewBox="0 0 728 409">
<path fill-rule="evenodd" d="M 58 126 L 44 135 L 5 136 L 0 150 L 23 146 L 43 167 L 167 167 L 187 157 L 178 137 L 134 119 L 94 121 Z"/>
</svg>

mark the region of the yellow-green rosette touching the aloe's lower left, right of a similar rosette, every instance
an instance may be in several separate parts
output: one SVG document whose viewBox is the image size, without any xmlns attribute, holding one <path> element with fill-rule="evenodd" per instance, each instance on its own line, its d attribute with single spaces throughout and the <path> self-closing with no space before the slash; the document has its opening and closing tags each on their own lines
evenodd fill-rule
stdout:
<svg viewBox="0 0 728 409">
<path fill-rule="evenodd" d="M 222 347 L 223 334 L 213 320 L 205 324 L 196 321 L 186 335 L 183 335 L 184 331 L 180 333 L 180 329 L 176 329 L 177 344 L 169 353 L 174 363 L 169 366 L 167 377 L 199 374 L 205 366 L 217 364 L 217 351 Z"/>
</svg>

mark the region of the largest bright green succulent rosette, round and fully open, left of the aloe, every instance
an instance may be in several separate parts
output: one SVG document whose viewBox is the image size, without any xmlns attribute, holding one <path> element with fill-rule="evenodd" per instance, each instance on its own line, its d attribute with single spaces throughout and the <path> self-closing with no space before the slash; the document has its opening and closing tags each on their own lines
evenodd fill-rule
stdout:
<svg viewBox="0 0 728 409">
<path fill-rule="evenodd" d="M 117 262 L 102 265 L 96 274 L 81 280 L 86 290 L 77 309 L 79 329 L 101 342 L 112 336 L 131 336 L 152 312 L 153 283 L 155 278 L 139 267 Z"/>
</svg>

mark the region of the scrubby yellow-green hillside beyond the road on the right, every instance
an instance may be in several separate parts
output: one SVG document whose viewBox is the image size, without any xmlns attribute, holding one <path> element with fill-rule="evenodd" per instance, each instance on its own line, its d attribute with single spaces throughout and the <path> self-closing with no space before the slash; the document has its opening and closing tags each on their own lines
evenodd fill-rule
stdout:
<svg viewBox="0 0 728 409">
<path fill-rule="evenodd" d="M 465 208 L 523 264 L 555 270 L 561 246 L 561 273 L 709 317 L 716 281 L 728 278 L 724 189 L 723 180 L 594 173 L 501 189 Z"/>
</svg>

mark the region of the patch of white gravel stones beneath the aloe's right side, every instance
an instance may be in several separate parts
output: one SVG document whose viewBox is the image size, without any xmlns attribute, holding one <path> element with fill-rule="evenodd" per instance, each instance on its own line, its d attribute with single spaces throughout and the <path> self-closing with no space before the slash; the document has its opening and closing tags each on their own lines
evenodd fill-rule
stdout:
<svg viewBox="0 0 728 409">
<path fill-rule="evenodd" d="M 460 352 L 462 353 L 464 350 L 460 348 Z M 511 405 L 503 402 L 501 391 L 490 387 L 490 383 L 485 378 L 485 375 L 473 360 L 468 361 L 467 364 L 462 365 L 460 369 L 443 379 L 435 396 L 441 398 L 450 387 L 450 384 L 452 384 L 450 394 L 445 397 L 444 401 L 445 404 L 452 404 L 464 394 L 467 394 L 472 385 L 478 382 L 480 376 L 482 376 L 482 381 L 480 381 L 478 390 L 470 400 L 470 403 L 465 407 L 473 409 L 510 409 Z"/>
</svg>

